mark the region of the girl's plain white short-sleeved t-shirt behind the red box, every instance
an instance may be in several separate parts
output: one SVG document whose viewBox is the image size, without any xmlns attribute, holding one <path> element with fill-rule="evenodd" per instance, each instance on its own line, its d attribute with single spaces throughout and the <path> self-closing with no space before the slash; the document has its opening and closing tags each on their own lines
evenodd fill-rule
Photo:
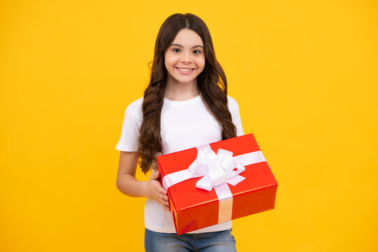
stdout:
<svg viewBox="0 0 378 252">
<path fill-rule="evenodd" d="M 143 97 L 127 106 L 120 141 L 116 146 L 118 151 L 138 151 L 139 149 L 139 129 L 143 120 L 142 102 Z M 243 135 L 239 106 L 231 97 L 228 97 L 228 109 L 232 116 L 232 123 L 237 128 L 237 136 Z M 207 109 L 200 95 L 183 102 L 165 98 L 160 117 L 160 135 L 163 154 L 168 154 L 221 141 L 222 128 Z M 144 224 L 146 228 L 155 232 L 176 232 L 169 212 L 150 198 L 146 200 L 144 207 Z M 191 233 L 228 230 L 231 227 L 232 221 L 228 221 Z"/>
</svg>

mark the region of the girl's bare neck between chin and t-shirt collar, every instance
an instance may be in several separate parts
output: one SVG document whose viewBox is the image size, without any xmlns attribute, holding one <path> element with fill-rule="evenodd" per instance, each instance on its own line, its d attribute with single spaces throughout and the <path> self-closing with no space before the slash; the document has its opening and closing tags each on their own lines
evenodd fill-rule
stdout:
<svg viewBox="0 0 378 252">
<path fill-rule="evenodd" d="M 167 86 L 165 87 L 165 97 L 172 101 L 181 102 L 197 97 L 200 94 L 197 88 L 197 79 L 190 83 L 179 83 L 177 80 L 168 76 Z"/>
</svg>

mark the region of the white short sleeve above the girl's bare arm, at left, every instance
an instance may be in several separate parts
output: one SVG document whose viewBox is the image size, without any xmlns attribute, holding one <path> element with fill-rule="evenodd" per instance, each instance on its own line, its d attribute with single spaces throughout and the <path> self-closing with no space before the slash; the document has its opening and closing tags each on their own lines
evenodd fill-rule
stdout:
<svg viewBox="0 0 378 252">
<path fill-rule="evenodd" d="M 132 111 L 132 106 L 127 106 L 120 141 L 118 141 L 116 146 L 118 151 L 138 151 L 141 120 L 139 120 L 137 115 L 137 111 Z"/>
</svg>

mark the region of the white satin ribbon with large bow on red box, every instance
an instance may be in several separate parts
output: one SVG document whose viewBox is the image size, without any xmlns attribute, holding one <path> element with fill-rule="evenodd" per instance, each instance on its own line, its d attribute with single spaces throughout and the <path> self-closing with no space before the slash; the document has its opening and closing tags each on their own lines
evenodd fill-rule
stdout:
<svg viewBox="0 0 378 252">
<path fill-rule="evenodd" d="M 166 175 L 162 179 L 162 186 L 167 190 L 176 183 L 202 176 L 195 186 L 208 191 L 214 188 L 219 200 L 218 223 L 230 221 L 232 193 L 228 183 L 236 186 L 243 181 L 245 178 L 239 174 L 246 169 L 244 166 L 265 162 L 264 155 L 261 151 L 255 151 L 232 157 L 231 151 L 221 148 L 214 153 L 209 144 L 197 147 L 197 150 L 197 158 L 189 168 Z"/>
</svg>

